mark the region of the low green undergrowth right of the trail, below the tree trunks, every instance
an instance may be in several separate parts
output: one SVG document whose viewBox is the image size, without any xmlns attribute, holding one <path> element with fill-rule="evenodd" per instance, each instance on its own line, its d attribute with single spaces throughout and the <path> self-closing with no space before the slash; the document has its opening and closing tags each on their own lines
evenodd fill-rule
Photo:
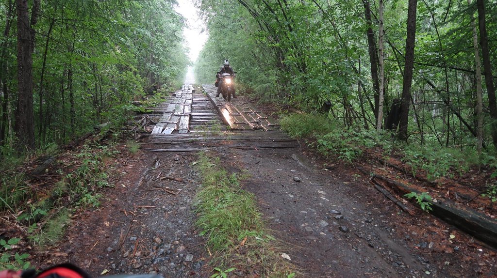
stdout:
<svg viewBox="0 0 497 278">
<path fill-rule="evenodd" d="M 388 131 L 345 128 L 323 114 L 289 114 L 280 125 L 283 131 L 295 138 L 309 139 L 308 145 L 324 156 L 335 157 L 353 164 L 360 159 L 366 149 L 379 148 L 383 156 L 393 153 L 412 169 L 413 175 L 419 171 L 426 174 L 427 180 L 435 182 L 439 178 L 453 178 L 462 175 L 471 167 L 488 167 L 497 177 L 497 159 L 489 154 L 478 155 L 476 150 L 466 148 L 442 148 L 430 142 L 423 145 L 405 144 L 395 140 L 395 134 Z"/>
</svg>

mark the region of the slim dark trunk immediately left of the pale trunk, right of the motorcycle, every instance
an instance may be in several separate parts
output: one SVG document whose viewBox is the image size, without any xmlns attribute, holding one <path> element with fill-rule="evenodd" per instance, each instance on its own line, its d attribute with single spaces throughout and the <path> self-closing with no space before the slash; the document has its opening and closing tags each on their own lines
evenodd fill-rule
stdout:
<svg viewBox="0 0 497 278">
<path fill-rule="evenodd" d="M 376 122 L 378 122 L 378 103 L 380 100 L 380 82 L 378 80 L 378 50 L 376 48 L 376 42 L 374 39 L 374 33 L 371 23 L 371 7 L 368 0 L 363 0 L 364 13 L 366 17 L 366 22 L 368 23 L 367 39 L 368 39 L 368 51 L 369 51 L 369 61 L 371 62 L 371 79 L 373 80 L 373 91 L 374 91 L 374 116 Z"/>
</svg>

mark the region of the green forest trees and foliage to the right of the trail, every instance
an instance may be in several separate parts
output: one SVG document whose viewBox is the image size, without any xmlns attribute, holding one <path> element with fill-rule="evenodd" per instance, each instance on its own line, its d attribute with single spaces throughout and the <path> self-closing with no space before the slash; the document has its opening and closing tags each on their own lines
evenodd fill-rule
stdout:
<svg viewBox="0 0 497 278">
<path fill-rule="evenodd" d="M 328 103 L 347 127 L 495 150 L 495 0 L 198 5 L 209 32 L 195 65 L 199 82 L 212 83 L 228 58 L 262 101 L 308 112 Z"/>
</svg>

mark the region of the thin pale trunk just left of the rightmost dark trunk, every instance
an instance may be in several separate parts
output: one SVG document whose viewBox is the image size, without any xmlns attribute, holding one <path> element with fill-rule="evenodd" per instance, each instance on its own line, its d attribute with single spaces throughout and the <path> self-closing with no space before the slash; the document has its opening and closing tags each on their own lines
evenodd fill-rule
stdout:
<svg viewBox="0 0 497 278">
<path fill-rule="evenodd" d="M 471 0 L 468 0 L 468 5 L 471 5 Z M 483 146 L 483 101 L 482 101 L 482 63 L 480 62 L 480 51 L 478 48 L 478 33 L 476 31 L 475 17 L 473 13 L 471 17 L 471 29 L 473 29 L 473 48 L 475 49 L 475 71 L 476 71 L 476 109 L 475 116 L 476 124 L 476 149 L 480 154 Z"/>
</svg>

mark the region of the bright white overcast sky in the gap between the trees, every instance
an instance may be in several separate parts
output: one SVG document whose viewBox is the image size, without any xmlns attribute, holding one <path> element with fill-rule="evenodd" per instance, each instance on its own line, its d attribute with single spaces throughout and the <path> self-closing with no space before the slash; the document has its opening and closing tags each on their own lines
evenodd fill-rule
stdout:
<svg viewBox="0 0 497 278">
<path fill-rule="evenodd" d="M 186 40 L 186 47 L 190 49 L 190 60 L 195 62 L 198 57 L 198 53 L 202 50 L 202 47 L 207 40 L 207 33 L 202 32 L 205 25 L 197 15 L 198 9 L 193 4 L 193 0 L 177 1 L 178 7 L 176 7 L 176 11 L 187 19 L 188 26 L 183 30 L 183 34 Z"/>
</svg>

